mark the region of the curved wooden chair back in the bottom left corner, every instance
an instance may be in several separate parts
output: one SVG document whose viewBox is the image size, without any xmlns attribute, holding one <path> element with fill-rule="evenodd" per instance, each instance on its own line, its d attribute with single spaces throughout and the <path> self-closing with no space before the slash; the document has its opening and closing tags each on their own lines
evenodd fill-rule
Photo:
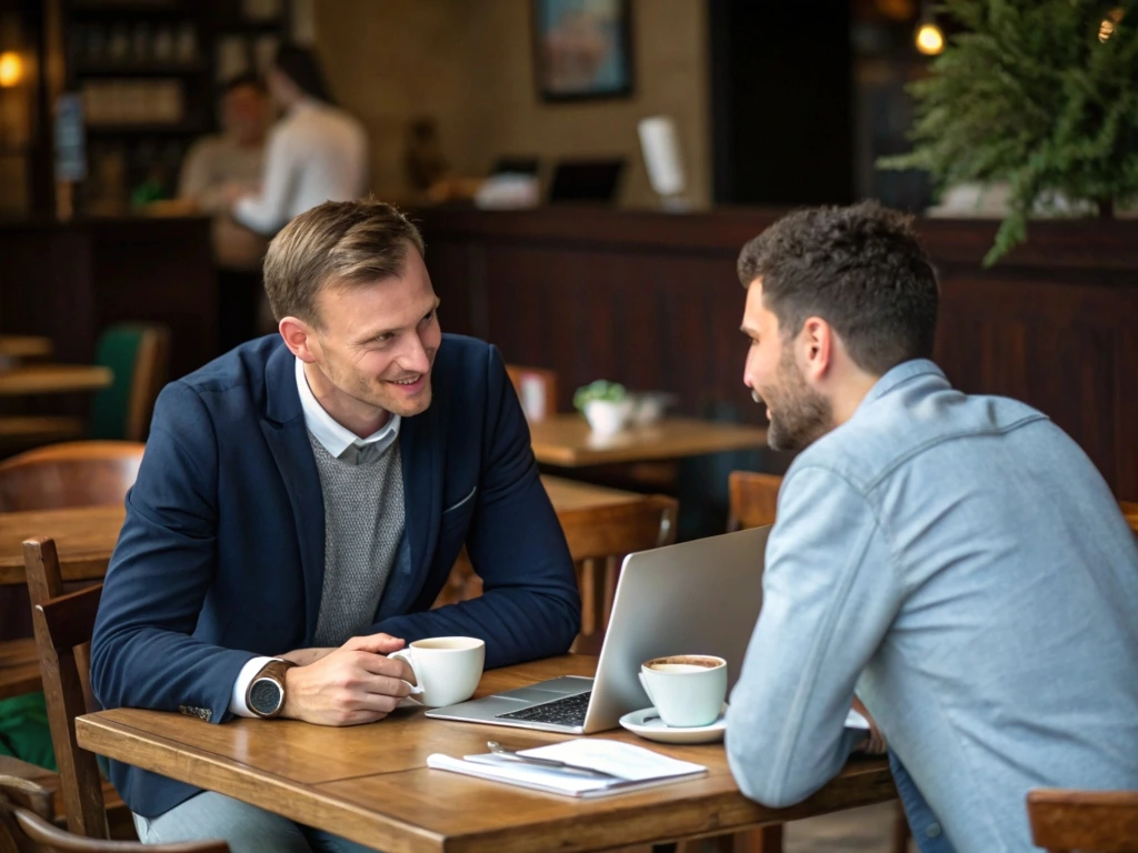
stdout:
<svg viewBox="0 0 1138 853">
<path fill-rule="evenodd" d="M 185 842 L 143 846 L 137 842 L 93 840 L 65 833 L 55 818 L 51 792 L 26 779 L 0 776 L 2 853 L 228 853 L 225 842 Z"/>
</svg>

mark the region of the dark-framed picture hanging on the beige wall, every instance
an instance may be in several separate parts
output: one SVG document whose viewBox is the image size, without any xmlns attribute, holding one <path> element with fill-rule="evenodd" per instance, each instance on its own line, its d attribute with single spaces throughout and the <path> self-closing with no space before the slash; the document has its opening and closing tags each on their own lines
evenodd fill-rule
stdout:
<svg viewBox="0 0 1138 853">
<path fill-rule="evenodd" d="M 546 101 L 633 91 L 629 0 L 533 0 L 537 91 Z"/>
</svg>

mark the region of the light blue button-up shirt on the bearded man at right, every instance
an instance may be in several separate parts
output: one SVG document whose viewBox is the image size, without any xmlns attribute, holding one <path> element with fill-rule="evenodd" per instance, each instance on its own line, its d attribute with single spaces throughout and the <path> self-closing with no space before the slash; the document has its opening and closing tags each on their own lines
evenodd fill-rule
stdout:
<svg viewBox="0 0 1138 853">
<path fill-rule="evenodd" d="M 830 780 L 855 688 L 959 853 L 1036 850 L 1031 788 L 1138 788 L 1135 537 L 1046 416 L 926 361 L 783 481 L 727 714 L 743 792 Z"/>
</svg>

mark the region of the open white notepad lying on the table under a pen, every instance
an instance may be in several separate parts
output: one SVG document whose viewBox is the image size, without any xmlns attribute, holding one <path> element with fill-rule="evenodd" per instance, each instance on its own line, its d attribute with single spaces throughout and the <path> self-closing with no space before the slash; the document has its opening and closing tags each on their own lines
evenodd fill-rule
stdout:
<svg viewBox="0 0 1138 853">
<path fill-rule="evenodd" d="M 520 754 L 556 759 L 576 767 L 612 773 L 615 778 L 593 778 L 558 768 L 521 764 L 503 760 L 493 753 L 465 755 L 462 759 L 436 753 L 427 757 L 427 767 L 572 797 L 600 797 L 643 790 L 699 778 L 708 770 L 702 764 L 677 761 L 642 746 L 603 738 L 576 738 L 522 750 Z"/>
</svg>

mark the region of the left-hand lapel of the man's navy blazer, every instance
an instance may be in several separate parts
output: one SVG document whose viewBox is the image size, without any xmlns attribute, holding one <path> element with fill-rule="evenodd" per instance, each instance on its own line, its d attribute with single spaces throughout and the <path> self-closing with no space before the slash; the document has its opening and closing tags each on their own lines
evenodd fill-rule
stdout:
<svg viewBox="0 0 1138 853">
<path fill-rule="evenodd" d="M 311 645 L 324 585 L 324 498 L 296 388 L 296 362 L 281 346 L 265 366 L 265 412 L 261 431 L 277 462 L 296 523 L 304 574 L 305 643 Z"/>
</svg>

